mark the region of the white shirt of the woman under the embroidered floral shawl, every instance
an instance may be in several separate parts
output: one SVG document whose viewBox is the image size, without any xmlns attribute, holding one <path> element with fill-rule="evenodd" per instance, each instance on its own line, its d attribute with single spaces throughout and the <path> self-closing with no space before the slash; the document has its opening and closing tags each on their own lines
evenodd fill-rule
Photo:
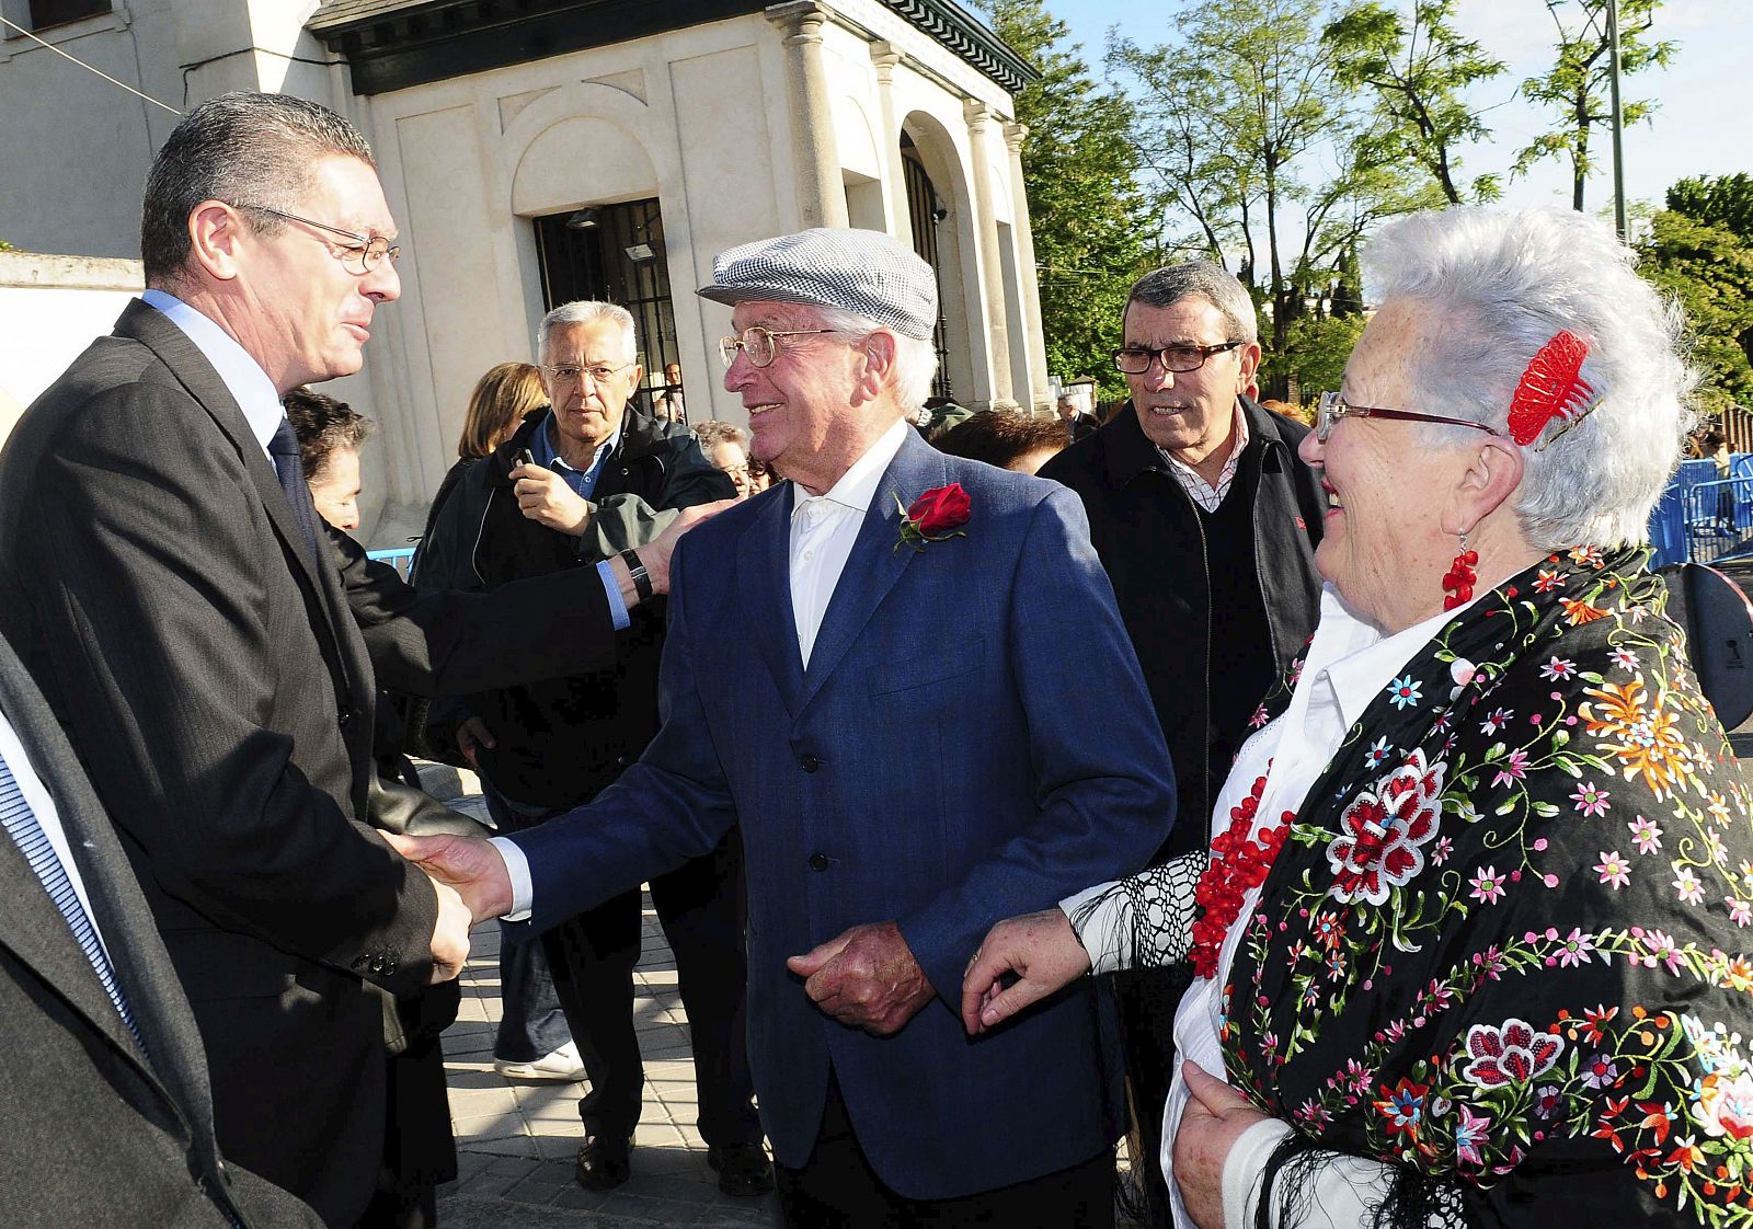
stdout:
<svg viewBox="0 0 1753 1229">
<path fill-rule="evenodd" d="M 1320 622 L 1309 643 L 1302 673 L 1290 694 L 1290 707 L 1241 745 L 1224 789 L 1213 806 L 1215 815 L 1229 815 L 1231 808 L 1266 777 L 1260 794 L 1255 831 L 1273 826 L 1283 812 L 1301 812 L 1302 801 L 1315 780 L 1327 768 L 1345 731 L 1364 714 L 1364 708 L 1385 691 L 1394 677 L 1411 661 L 1437 631 L 1458 612 L 1450 610 L 1392 636 L 1352 612 L 1329 584 L 1322 587 Z M 1066 913 L 1101 896 L 1106 885 L 1080 892 L 1062 903 Z M 1255 887 L 1241 903 L 1238 919 L 1250 917 L 1260 898 Z M 1115 898 L 1120 905 L 1120 898 Z M 1113 931 L 1120 926 L 1113 908 L 1097 908 L 1082 926 L 1087 950 L 1096 955 L 1120 950 Z M 1218 1006 L 1224 982 L 1229 978 L 1243 927 L 1232 926 L 1218 952 L 1217 977 L 1196 978 L 1175 1012 L 1175 1080 L 1162 1110 L 1162 1176 L 1169 1185 L 1169 1203 L 1178 1229 L 1190 1227 L 1192 1217 L 1175 1185 L 1175 1131 L 1187 1108 L 1187 1080 L 1182 1062 L 1194 1061 L 1217 1078 L 1224 1078 L 1224 1047 L 1218 1041 Z M 1111 973 L 1117 961 L 1099 959 L 1092 973 Z M 1224 1222 L 1232 1229 L 1253 1224 L 1253 1204 L 1259 1199 L 1259 1178 L 1278 1141 L 1290 1133 L 1280 1120 L 1250 1127 L 1224 1164 Z M 1355 1225 L 1367 1222 L 1367 1210 L 1385 1192 L 1385 1169 L 1367 1159 L 1336 1159 L 1317 1178 L 1318 1197 L 1313 1201 L 1306 1225 Z"/>
</svg>

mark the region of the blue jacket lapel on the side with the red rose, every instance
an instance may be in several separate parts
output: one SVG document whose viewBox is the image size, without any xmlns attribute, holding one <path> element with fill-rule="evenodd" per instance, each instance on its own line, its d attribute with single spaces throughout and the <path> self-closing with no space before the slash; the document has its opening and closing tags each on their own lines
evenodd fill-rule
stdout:
<svg viewBox="0 0 1753 1229">
<path fill-rule="evenodd" d="M 919 438 L 917 431 L 908 431 L 901 440 L 901 451 L 876 484 L 871 507 L 859 526 L 857 542 L 847 556 L 847 566 L 834 586 L 834 596 L 827 601 L 822 615 L 822 628 L 815 635 L 815 647 L 810 650 L 810 668 L 803 675 L 803 703 L 808 705 L 822 689 L 822 684 L 847 656 L 847 650 L 864 631 L 876 607 L 889 596 L 896 580 L 919 554 L 912 547 L 896 551 L 901 533 L 901 503 L 912 503 L 922 491 L 943 486 L 947 480 L 943 456 Z M 791 593 L 787 584 L 787 593 Z M 792 636 L 796 643 L 796 636 Z"/>
</svg>

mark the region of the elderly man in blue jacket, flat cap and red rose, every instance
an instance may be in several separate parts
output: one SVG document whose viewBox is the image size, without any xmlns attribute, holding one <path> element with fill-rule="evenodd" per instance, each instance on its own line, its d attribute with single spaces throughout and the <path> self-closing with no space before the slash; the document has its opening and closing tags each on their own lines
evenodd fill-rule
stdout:
<svg viewBox="0 0 1753 1229">
<path fill-rule="evenodd" d="M 957 1015 L 996 919 L 1141 864 L 1173 822 L 1083 510 L 908 430 L 936 282 L 887 235 L 749 244 L 701 295 L 735 307 L 724 386 L 791 480 L 677 552 L 663 731 L 540 829 L 400 847 L 477 917 L 542 929 L 740 824 L 787 1222 L 1110 1225 L 1117 1106 L 1087 987 L 973 1041 Z"/>
</svg>

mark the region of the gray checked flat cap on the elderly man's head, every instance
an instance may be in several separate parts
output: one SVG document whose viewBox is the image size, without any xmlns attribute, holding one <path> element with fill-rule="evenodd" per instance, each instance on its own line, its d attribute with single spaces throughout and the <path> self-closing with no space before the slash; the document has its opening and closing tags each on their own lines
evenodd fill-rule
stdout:
<svg viewBox="0 0 1753 1229">
<path fill-rule="evenodd" d="M 876 321 L 903 337 L 931 337 L 938 279 L 906 244 L 875 230 L 805 230 L 720 252 L 705 298 L 815 303 Z"/>
</svg>

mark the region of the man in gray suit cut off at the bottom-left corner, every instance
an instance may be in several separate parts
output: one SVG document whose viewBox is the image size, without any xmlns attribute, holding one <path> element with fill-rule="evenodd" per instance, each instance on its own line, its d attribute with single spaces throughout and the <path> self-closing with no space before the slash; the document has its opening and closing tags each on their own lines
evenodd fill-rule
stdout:
<svg viewBox="0 0 1753 1229">
<path fill-rule="evenodd" d="M 84 770 L 5 642 L 0 819 L 0 1220 L 316 1229 L 310 1208 L 219 1159 L 189 1003 Z"/>
</svg>

